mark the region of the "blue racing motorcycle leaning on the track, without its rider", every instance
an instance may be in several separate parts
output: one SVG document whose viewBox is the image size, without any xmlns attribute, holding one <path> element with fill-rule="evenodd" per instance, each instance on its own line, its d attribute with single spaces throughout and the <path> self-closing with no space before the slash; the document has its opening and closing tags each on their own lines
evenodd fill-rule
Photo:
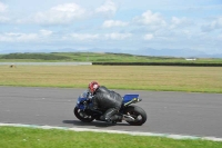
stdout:
<svg viewBox="0 0 222 148">
<path fill-rule="evenodd" d="M 77 105 L 74 107 L 73 112 L 75 117 L 83 122 L 100 120 L 100 117 L 104 112 L 102 110 L 87 109 L 87 107 L 92 103 L 92 97 L 93 96 L 88 90 L 83 91 L 79 96 Z M 132 103 L 142 101 L 142 99 L 139 98 L 139 95 L 124 95 L 122 98 L 123 98 L 122 106 L 118 115 L 122 116 L 122 120 L 125 120 L 128 124 L 132 126 L 143 125 L 147 121 L 145 111 L 139 106 L 132 106 Z M 122 122 L 122 120 L 113 121 L 113 124 Z"/>
</svg>

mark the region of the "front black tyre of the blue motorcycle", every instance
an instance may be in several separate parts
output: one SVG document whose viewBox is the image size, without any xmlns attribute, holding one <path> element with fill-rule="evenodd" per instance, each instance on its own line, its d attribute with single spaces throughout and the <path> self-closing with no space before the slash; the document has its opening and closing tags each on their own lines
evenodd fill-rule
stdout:
<svg viewBox="0 0 222 148">
<path fill-rule="evenodd" d="M 74 112 L 74 116 L 83 122 L 91 122 L 94 120 L 92 116 L 88 116 L 83 110 L 77 107 L 74 108 L 73 112 Z"/>
</svg>

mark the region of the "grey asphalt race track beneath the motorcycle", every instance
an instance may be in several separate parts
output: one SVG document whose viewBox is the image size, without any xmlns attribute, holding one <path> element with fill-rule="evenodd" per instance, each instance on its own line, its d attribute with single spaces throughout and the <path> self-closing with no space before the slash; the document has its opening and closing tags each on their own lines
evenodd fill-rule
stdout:
<svg viewBox="0 0 222 148">
<path fill-rule="evenodd" d="M 148 114 L 143 126 L 84 124 L 73 115 L 83 89 L 0 87 L 0 122 L 30 124 L 222 138 L 222 95 L 115 90 L 139 93 Z"/>
</svg>

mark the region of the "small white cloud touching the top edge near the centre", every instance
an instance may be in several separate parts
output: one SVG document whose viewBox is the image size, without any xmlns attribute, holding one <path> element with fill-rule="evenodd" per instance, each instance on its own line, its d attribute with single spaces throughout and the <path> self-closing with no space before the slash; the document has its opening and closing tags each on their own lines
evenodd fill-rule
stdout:
<svg viewBox="0 0 222 148">
<path fill-rule="evenodd" d="M 95 12 L 105 13 L 105 14 L 114 14 L 118 10 L 115 3 L 111 0 L 107 0 L 105 3 L 95 9 Z"/>
</svg>

